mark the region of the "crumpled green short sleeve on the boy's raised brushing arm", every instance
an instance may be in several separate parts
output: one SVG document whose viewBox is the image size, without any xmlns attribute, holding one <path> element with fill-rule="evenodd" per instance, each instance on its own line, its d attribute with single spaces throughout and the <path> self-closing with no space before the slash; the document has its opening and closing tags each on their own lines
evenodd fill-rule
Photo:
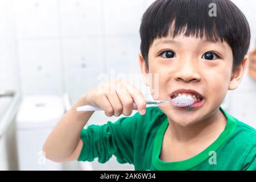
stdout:
<svg viewBox="0 0 256 182">
<path fill-rule="evenodd" d="M 133 164 L 134 135 L 139 113 L 133 117 L 119 118 L 105 125 L 90 125 L 82 129 L 80 138 L 84 143 L 78 161 L 107 162 L 115 155 L 119 163 Z"/>
</svg>

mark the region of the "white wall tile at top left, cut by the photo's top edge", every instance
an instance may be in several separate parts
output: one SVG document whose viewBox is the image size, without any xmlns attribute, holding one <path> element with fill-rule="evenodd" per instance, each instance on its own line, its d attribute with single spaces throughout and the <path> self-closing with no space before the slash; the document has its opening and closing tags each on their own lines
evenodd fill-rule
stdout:
<svg viewBox="0 0 256 182">
<path fill-rule="evenodd" d="M 59 36 L 57 0 L 14 0 L 18 38 Z"/>
</svg>

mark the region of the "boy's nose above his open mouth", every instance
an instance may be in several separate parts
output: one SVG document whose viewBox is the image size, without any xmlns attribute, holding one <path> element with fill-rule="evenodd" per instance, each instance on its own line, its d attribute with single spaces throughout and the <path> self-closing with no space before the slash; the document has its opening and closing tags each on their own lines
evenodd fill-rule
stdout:
<svg viewBox="0 0 256 182">
<path fill-rule="evenodd" d="M 181 61 L 174 76 L 176 81 L 199 82 L 201 80 L 197 64 L 192 60 Z"/>
</svg>

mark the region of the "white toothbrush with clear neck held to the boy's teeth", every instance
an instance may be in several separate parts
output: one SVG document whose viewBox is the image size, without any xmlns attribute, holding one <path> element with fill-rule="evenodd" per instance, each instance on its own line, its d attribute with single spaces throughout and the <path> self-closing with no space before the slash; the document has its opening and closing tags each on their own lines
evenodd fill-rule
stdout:
<svg viewBox="0 0 256 182">
<path fill-rule="evenodd" d="M 194 103 L 194 99 L 191 96 L 178 96 L 171 100 L 153 100 L 153 101 L 146 101 L 146 107 L 156 107 L 163 104 L 171 104 L 177 107 L 186 107 L 191 106 Z M 133 109 L 137 109 L 137 104 L 133 103 Z M 77 111 L 97 111 L 103 110 L 101 107 L 93 106 L 93 105 L 85 105 L 76 108 Z"/>
</svg>

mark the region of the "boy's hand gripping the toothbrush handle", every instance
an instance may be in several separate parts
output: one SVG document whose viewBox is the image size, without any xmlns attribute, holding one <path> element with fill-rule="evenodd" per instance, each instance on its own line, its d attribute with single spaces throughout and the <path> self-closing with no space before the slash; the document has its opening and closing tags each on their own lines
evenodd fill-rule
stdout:
<svg viewBox="0 0 256 182">
<path fill-rule="evenodd" d="M 123 114 L 131 115 L 133 102 L 138 106 L 139 113 L 146 113 L 146 100 L 143 94 L 133 84 L 124 80 L 113 80 L 106 84 L 100 84 L 96 88 L 84 94 L 86 105 L 101 107 L 108 117 Z"/>
</svg>

